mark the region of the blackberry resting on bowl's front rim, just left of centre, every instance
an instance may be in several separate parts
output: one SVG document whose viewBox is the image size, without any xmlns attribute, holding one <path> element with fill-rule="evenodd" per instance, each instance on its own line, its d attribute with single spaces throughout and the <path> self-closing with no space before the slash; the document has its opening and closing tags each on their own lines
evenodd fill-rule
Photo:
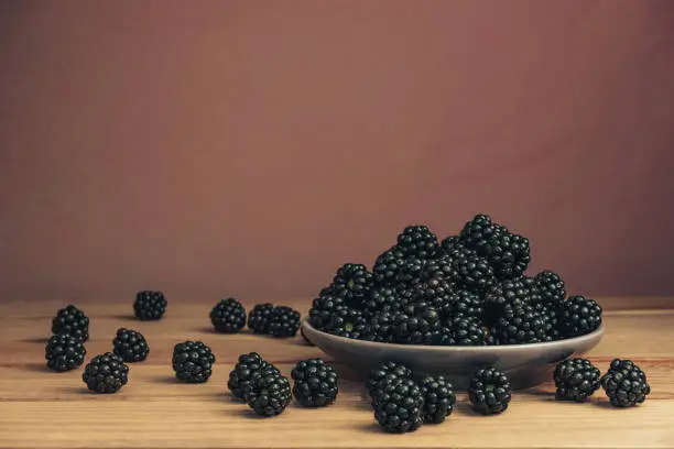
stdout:
<svg viewBox="0 0 674 449">
<path fill-rule="evenodd" d="M 405 306 L 393 317 L 393 342 L 402 344 L 432 344 L 433 333 L 441 327 L 441 316 L 425 304 Z"/>
</svg>

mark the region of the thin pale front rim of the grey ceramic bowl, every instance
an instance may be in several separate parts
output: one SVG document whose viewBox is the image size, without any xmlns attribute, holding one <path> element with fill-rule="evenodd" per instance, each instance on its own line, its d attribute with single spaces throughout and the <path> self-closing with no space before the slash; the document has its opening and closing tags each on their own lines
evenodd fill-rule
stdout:
<svg viewBox="0 0 674 449">
<path fill-rule="evenodd" d="M 334 336 L 331 333 L 324 332 L 323 330 L 318 330 L 313 327 L 308 322 L 308 318 L 304 318 L 302 320 L 302 328 L 308 329 L 309 332 L 317 333 L 322 336 L 322 338 L 339 341 L 345 344 L 358 344 L 366 348 L 371 349 L 391 349 L 391 350 L 401 350 L 401 351 L 424 351 L 424 352 L 510 352 L 510 351 L 520 351 L 526 349 L 555 349 L 555 348 L 565 348 L 568 346 L 577 346 L 581 344 L 586 341 L 595 340 L 596 338 L 601 338 L 604 335 L 604 324 L 601 324 L 597 329 L 593 330 L 589 333 L 585 333 L 583 336 L 565 338 L 562 340 L 555 341 L 544 341 L 540 343 L 524 343 L 524 344 L 491 344 L 491 346 L 431 346 L 431 344 L 399 344 L 399 343 L 382 343 L 379 341 L 367 341 L 367 340 L 357 340 L 355 338 L 347 338 L 341 336 Z M 307 338 L 311 340 L 309 336 Z M 315 342 L 313 342 L 316 344 Z M 318 346 L 318 344 L 316 344 Z"/>
</svg>

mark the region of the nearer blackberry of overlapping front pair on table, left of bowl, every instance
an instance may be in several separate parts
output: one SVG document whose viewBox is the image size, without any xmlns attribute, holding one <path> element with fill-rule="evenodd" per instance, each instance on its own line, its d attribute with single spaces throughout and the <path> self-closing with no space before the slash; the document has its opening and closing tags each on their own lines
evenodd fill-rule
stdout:
<svg viewBox="0 0 674 449">
<path fill-rule="evenodd" d="M 267 371 L 256 376 L 248 394 L 248 405 L 260 416 L 276 416 L 287 407 L 292 398 L 287 377 Z"/>
</svg>

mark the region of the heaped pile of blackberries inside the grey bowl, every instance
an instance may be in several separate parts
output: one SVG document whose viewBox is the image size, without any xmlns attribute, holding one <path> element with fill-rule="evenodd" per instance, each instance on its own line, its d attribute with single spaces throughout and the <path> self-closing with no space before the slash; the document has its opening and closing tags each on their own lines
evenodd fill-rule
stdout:
<svg viewBox="0 0 674 449">
<path fill-rule="evenodd" d="M 555 272 L 528 275 L 530 262 L 529 239 L 487 215 L 443 240 L 409 226 L 371 271 L 340 266 L 312 302 L 309 324 L 339 337 L 427 346 L 539 343 L 601 326 L 601 306 L 567 298 Z"/>
</svg>

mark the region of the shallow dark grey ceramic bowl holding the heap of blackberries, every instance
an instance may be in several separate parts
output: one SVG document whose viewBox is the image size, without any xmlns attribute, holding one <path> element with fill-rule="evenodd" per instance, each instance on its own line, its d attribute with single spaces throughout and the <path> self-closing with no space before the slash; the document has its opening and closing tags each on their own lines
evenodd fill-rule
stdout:
<svg viewBox="0 0 674 449">
<path fill-rule="evenodd" d="M 548 343 L 434 347 L 377 343 L 337 337 L 313 328 L 305 319 L 306 338 L 325 353 L 348 365 L 361 379 L 382 361 L 396 361 L 417 373 L 444 374 L 458 390 L 466 390 L 471 374 L 483 365 L 494 365 L 510 377 L 515 390 L 535 386 L 552 379 L 555 364 L 583 354 L 599 343 L 604 327 L 591 333 Z"/>
</svg>

